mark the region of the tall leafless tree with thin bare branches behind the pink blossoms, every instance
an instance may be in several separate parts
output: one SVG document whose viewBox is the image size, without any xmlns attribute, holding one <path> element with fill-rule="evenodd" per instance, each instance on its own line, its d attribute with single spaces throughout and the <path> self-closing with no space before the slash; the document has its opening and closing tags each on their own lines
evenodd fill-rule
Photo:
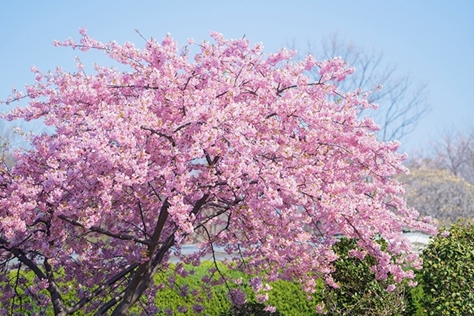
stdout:
<svg viewBox="0 0 474 316">
<path fill-rule="evenodd" d="M 308 51 L 317 59 L 340 56 L 356 68 L 348 80 L 341 82 L 341 89 L 372 91 L 369 100 L 379 104 L 379 110 L 364 110 L 361 115 L 374 117 L 381 126 L 378 133 L 381 140 L 403 139 L 414 131 L 418 121 L 430 110 L 427 84 L 417 84 L 410 74 L 400 75 L 398 66 L 386 62 L 383 53 L 376 49 L 366 49 L 352 41 L 341 40 L 335 33 L 324 38 L 321 45 L 309 43 Z M 382 89 L 375 89 L 378 86 Z"/>
</svg>

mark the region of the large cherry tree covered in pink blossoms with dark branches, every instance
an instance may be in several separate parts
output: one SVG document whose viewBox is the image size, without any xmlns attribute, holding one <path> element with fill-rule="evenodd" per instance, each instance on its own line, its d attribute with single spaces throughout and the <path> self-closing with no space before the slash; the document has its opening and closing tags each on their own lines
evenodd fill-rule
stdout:
<svg viewBox="0 0 474 316">
<path fill-rule="evenodd" d="M 123 69 L 32 67 L 36 83 L 7 100 L 28 104 L 5 118 L 42 119 L 54 133 L 27 135 L 31 147 L 0 169 L 2 314 L 21 308 L 22 294 L 55 315 L 126 315 L 140 297 L 153 313 L 163 286 L 153 276 L 170 254 L 199 264 L 215 247 L 234 257 L 232 269 L 266 275 L 251 280 L 256 292 L 288 278 L 308 293 L 317 278 L 337 287 L 336 234 L 359 240 L 352 255 L 376 258 L 377 278 L 414 277 L 404 268 L 421 262 L 402 229 L 436 228 L 400 196 L 399 144 L 379 142 L 373 120 L 358 118 L 368 94 L 337 88 L 352 73 L 343 60 L 292 63 L 286 49 L 266 56 L 214 32 L 213 44 L 189 41 L 199 47 L 192 60 L 171 36 L 137 48 L 80 34 L 54 44 L 103 51 Z M 181 255 L 194 232 L 199 251 Z M 203 281 L 230 282 L 219 267 Z M 245 302 L 238 289 L 229 297 Z"/>
</svg>

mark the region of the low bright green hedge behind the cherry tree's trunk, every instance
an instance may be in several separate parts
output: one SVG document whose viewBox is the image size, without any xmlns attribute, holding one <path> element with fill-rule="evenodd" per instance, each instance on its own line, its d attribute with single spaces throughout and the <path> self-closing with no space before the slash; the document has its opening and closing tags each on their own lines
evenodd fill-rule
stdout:
<svg viewBox="0 0 474 316">
<path fill-rule="evenodd" d="M 227 313 L 231 311 L 232 305 L 227 299 L 227 287 L 225 286 L 225 284 L 211 286 L 211 297 L 207 297 L 206 293 L 199 293 L 198 295 L 192 294 L 192 290 L 200 290 L 201 286 L 203 286 L 201 278 L 203 277 L 203 275 L 205 275 L 205 272 L 208 268 L 210 268 L 210 266 L 211 264 L 203 263 L 199 267 L 188 267 L 188 270 L 192 269 L 194 273 L 188 275 L 186 278 L 181 278 L 180 276 L 177 276 L 174 287 L 172 289 L 170 289 L 168 286 L 165 286 L 163 287 L 163 289 L 160 289 L 157 292 L 157 296 L 155 297 L 155 306 L 159 307 L 159 312 L 157 313 L 157 315 L 168 315 L 166 313 L 166 308 L 170 308 L 174 312 L 173 315 L 196 315 L 196 312 L 193 310 L 194 304 L 200 304 L 204 307 L 204 311 L 203 313 L 201 313 L 201 315 L 203 316 L 215 316 L 220 315 L 221 313 Z M 174 266 L 172 266 L 171 268 L 174 268 Z M 249 308 L 252 306 L 252 308 L 257 308 L 257 306 L 260 306 L 256 303 L 256 297 L 250 286 L 245 285 L 247 284 L 250 278 L 249 275 L 245 275 L 245 273 L 242 273 L 240 271 L 229 270 L 223 264 L 219 264 L 219 269 L 225 275 L 232 276 L 232 278 L 242 278 L 243 285 L 241 289 L 247 294 L 247 305 L 249 306 Z M 157 273 L 157 275 L 155 275 L 156 282 L 158 284 L 168 282 L 170 273 L 171 269 L 169 271 L 167 270 Z M 22 272 L 22 274 L 25 278 L 30 280 L 30 282 L 32 282 L 32 280 L 34 279 L 34 274 L 31 271 L 27 273 Z M 4 284 L 0 284 L 0 289 L 3 285 Z M 74 290 L 76 288 L 76 286 L 74 286 L 74 282 L 69 282 L 68 284 L 63 285 L 65 285 L 66 287 L 71 286 L 73 288 L 71 291 L 69 291 L 69 293 L 63 296 L 67 304 L 69 302 L 76 302 L 78 300 L 78 295 Z M 179 295 L 179 288 L 182 286 L 188 286 L 188 292 L 190 293 L 189 295 Z M 278 280 L 275 282 L 271 282 L 271 286 L 273 287 L 273 290 L 269 292 L 269 300 L 267 303 L 271 306 L 275 306 L 277 308 L 277 311 L 280 312 L 280 315 L 315 315 L 315 306 L 318 301 L 306 300 L 306 293 L 302 291 L 300 284 L 297 284 L 295 282 Z M 321 293 L 321 289 L 323 287 L 322 282 L 319 282 L 318 286 L 319 289 L 317 290 L 317 293 Z M 45 293 L 45 295 L 47 295 L 47 293 Z M 131 315 L 138 315 L 139 313 L 141 313 L 142 304 L 146 305 L 147 300 L 148 297 L 142 297 L 140 302 L 137 305 L 133 306 L 133 308 L 131 308 Z M 19 297 L 17 297 L 17 301 L 18 302 L 16 302 L 16 304 L 18 306 L 14 308 L 14 312 L 16 312 L 16 315 L 31 315 L 32 313 L 39 313 L 39 315 L 53 315 L 51 304 L 46 307 L 38 306 L 37 302 L 34 302 L 31 297 L 27 295 L 19 295 Z M 31 310 L 28 308 L 29 305 L 32 306 Z M 179 312 L 179 308 L 181 308 L 181 311 L 183 312 Z M 82 311 L 78 311 L 74 315 L 80 316 L 84 315 L 84 313 L 82 313 Z M 278 314 L 273 315 L 276 316 Z"/>
</svg>

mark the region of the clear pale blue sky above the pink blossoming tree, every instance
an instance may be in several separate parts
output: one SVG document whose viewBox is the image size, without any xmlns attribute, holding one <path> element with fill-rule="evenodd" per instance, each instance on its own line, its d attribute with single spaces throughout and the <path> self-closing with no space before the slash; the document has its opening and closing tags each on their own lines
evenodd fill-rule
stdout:
<svg viewBox="0 0 474 316">
<path fill-rule="evenodd" d="M 11 87 L 33 83 L 30 67 L 74 69 L 74 56 L 86 67 L 107 63 L 100 54 L 54 47 L 54 39 L 80 38 L 78 27 L 100 41 L 132 41 L 172 34 L 209 40 L 209 31 L 227 38 L 245 34 L 275 52 L 295 41 L 306 53 L 334 32 L 374 48 L 398 64 L 400 74 L 426 81 L 432 111 L 405 139 L 408 152 L 427 146 L 446 129 L 474 124 L 473 0 L 238 0 L 238 1 L 2 1 L 0 5 L 0 100 Z M 2 105 L 0 111 L 5 111 Z M 5 122 L 0 122 L 5 124 Z M 1 128 L 0 128 L 1 129 Z"/>
</svg>

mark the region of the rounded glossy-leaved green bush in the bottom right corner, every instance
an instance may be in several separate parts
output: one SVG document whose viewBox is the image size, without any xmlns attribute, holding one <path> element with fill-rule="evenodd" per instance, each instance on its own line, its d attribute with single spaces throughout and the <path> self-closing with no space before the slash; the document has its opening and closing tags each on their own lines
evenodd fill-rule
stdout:
<svg viewBox="0 0 474 316">
<path fill-rule="evenodd" d="M 448 236 L 445 236 L 449 232 Z M 474 226 L 442 230 L 422 253 L 422 304 L 428 315 L 474 315 Z"/>
</svg>

